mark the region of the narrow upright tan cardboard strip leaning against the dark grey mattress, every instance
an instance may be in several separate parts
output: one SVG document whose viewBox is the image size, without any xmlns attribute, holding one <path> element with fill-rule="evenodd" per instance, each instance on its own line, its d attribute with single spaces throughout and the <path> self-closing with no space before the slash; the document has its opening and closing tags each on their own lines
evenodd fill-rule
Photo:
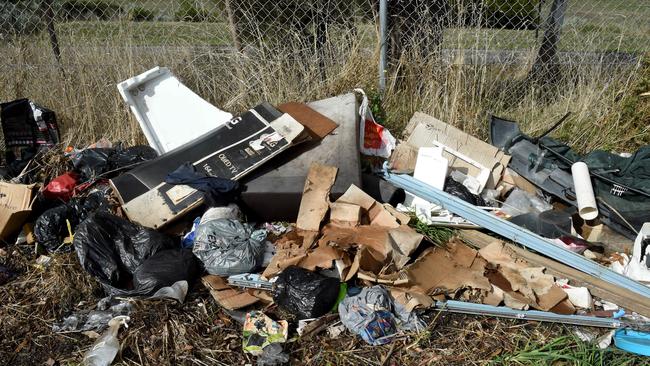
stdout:
<svg viewBox="0 0 650 366">
<path fill-rule="evenodd" d="M 329 210 L 329 193 L 337 172 L 335 167 L 317 163 L 309 168 L 296 227 L 307 231 L 320 229 L 320 224 Z"/>
</svg>

